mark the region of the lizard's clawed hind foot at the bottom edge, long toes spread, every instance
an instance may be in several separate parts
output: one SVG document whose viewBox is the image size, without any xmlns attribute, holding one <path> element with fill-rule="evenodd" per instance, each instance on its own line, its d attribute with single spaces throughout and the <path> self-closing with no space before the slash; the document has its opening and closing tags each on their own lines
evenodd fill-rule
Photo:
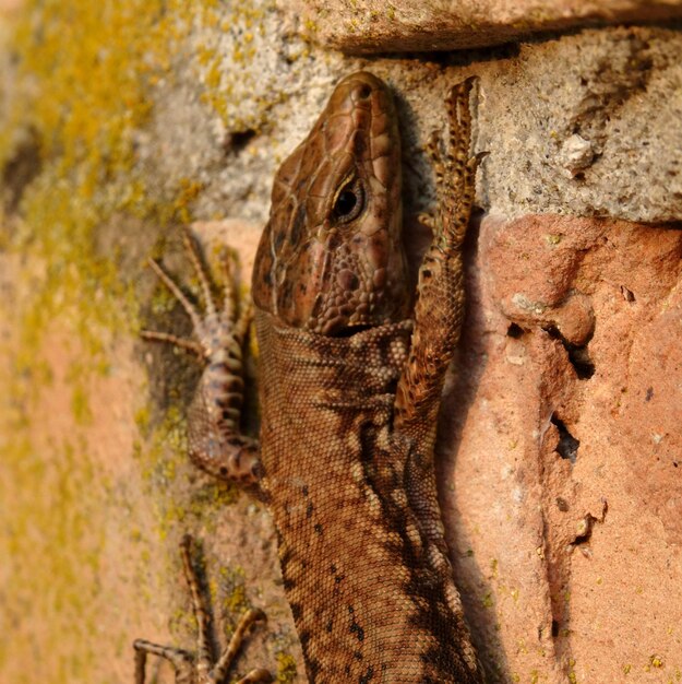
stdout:
<svg viewBox="0 0 682 684">
<path fill-rule="evenodd" d="M 133 642 L 135 649 L 135 684 L 144 684 L 145 682 L 145 664 L 148 653 L 165 658 L 172 664 L 176 671 L 176 684 L 219 684 L 227 676 L 250 627 L 255 622 L 265 620 L 265 614 L 259 609 L 247 611 L 239 621 L 228 646 L 223 649 L 217 660 L 214 659 L 208 636 L 211 616 L 204 594 L 199 586 L 196 570 L 190 558 L 191 545 L 192 538 L 187 534 L 180 544 L 180 552 L 184 576 L 192 594 L 194 617 L 198 623 L 196 656 L 181 648 L 159 646 L 144 639 L 135 639 Z M 240 679 L 238 684 L 272 681 L 272 674 L 267 670 L 256 669 L 251 670 L 249 674 Z"/>
</svg>

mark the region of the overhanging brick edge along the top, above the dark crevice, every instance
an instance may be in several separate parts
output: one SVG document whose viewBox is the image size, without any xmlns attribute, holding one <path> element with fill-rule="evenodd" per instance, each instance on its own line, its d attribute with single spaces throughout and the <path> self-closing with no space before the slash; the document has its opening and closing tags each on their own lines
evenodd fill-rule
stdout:
<svg viewBox="0 0 682 684">
<path fill-rule="evenodd" d="M 458 50 L 548 31 L 682 16 L 679 0 L 296 0 L 279 1 L 300 30 L 348 54 Z"/>
</svg>

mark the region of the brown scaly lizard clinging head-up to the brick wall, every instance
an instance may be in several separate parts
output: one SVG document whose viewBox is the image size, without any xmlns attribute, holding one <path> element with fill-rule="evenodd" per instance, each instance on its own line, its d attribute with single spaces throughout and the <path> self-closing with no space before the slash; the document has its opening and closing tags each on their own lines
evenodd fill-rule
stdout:
<svg viewBox="0 0 682 684">
<path fill-rule="evenodd" d="M 282 164 L 251 287 L 260 444 L 239 428 L 248 314 L 212 303 L 191 245 L 203 318 L 152 264 L 196 340 L 145 337 L 206 363 L 188 414 L 190 457 L 218 477 L 258 483 L 311 683 L 483 682 L 447 556 L 433 457 L 464 320 L 477 168 L 471 84 L 451 90 L 450 132 L 427 144 L 438 207 L 420 217 L 432 243 L 416 293 L 402 240 L 397 115 L 379 78 L 343 79 Z"/>
</svg>

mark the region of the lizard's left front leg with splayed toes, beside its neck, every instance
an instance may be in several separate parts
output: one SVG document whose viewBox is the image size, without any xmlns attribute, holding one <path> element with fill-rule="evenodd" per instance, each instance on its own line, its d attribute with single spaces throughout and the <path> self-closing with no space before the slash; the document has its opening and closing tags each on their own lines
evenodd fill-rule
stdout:
<svg viewBox="0 0 682 684">
<path fill-rule="evenodd" d="M 242 435 L 239 426 L 243 403 L 242 346 L 251 308 L 238 311 L 227 262 L 224 303 L 219 307 L 214 302 L 208 278 L 188 232 L 184 232 L 183 240 L 201 285 L 206 309 L 203 315 L 156 261 L 149 260 L 149 266 L 191 318 L 196 339 L 186 340 L 148 330 L 141 334 L 145 340 L 186 349 L 205 363 L 188 412 L 190 458 L 199 468 L 220 480 L 252 485 L 260 474 L 259 446 L 256 440 Z"/>
</svg>

